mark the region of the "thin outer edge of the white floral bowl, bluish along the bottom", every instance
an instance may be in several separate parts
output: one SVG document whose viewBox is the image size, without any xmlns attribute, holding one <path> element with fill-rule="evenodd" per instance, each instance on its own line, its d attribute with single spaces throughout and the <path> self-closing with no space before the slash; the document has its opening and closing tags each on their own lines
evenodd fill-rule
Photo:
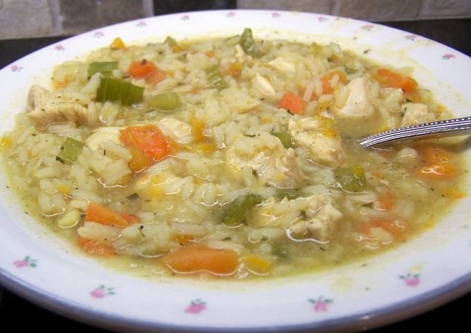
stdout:
<svg viewBox="0 0 471 333">
<path fill-rule="evenodd" d="M 286 10 L 265 10 L 265 9 L 254 9 L 254 10 L 240 10 L 240 9 L 220 9 L 220 10 L 201 10 L 201 11 L 192 11 L 192 12 L 177 12 L 167 15 L 155 15 L 153 17 L 144 17 L 141 19 L 133 19 L 130 21 L 123 21 L 119 23 L 114 23 L 112 25 L 103 26 L 100 28 L 110 28 L 113 26 L 119 26 L 123 23 L 132 23 L 139 22 L 143 19 L 154 19 L 156 17 L 171 17 L 171 16 L 181 16 L 181 15 L 195 15 L 200 13 L 220 13 L 220 12 L 278 12 L 288 14 L 290 11 Z M 308 15 L 321 15 L 315 12 L 299 12 L 300 14 Z M 339 17 L 343 19 L 350 19 L 348 17 L 341 17 L 337 15 L 324 15 L 324 17 Z M 359 20 L 359 19 L 350 19 L 357 22 L 369 23 L 368 21 Z M 398 32 L 406 32 L 406 30 L 401 30 L 398 28 L 393 28 L 389 26 L 384 26 L 381 23 L 374 23 L 375 26 L 381 26 L 389 30 L 396 30 Z M 68 41 L 69 39 L 75 39 L 75 37 L 80 37 L 82 35 L 87 35 L 89 32 L 99 30 L 100 28 L 94 28 L 86 32 L 82 32 L 78 35 L 73 35 L 61 39 L 60 41 Z M 427 37 L 417 35 L 423 39 L 431 40 Z M 436 42 L 438 43 L 438 42 Z M 56 44 L 53 42 L 51 44 Z M 8 68 L 10 65 L 16 61 L 20 61 L 30 55 L 35 53 L 40 53 L 42 50 L 51 46 L 51 44 L 39 48 L 32 53 L 28 53 L 24 57 L 16 59 L 11 64 L 7 64 L 1 70 Z M 459 53 L 464 57 L 470 58 L 465 53 L 460 50 L 456 50 L 445 44 L 438 43 L 441 46 L 453 50 L 455 53 Z M 362 312 L 360 314 L 352 314 L 348 316 L 342 316 L 340 318 L 331 318 L 323 321 L 313 321 L 312 323 L 302 323 L 302 324 L 293 324 L 293 325 L 265 325 L 260 327 L 200 327 L 196 325 L 172 325 L 168 323 L 159 323 L 157 321 L 147 321 L 141 319 L 133 319 L 126 316 L 120 316 L 116 314 L 109 314 L 102 310 L 92 309 L 91 307 L 80 304 L 76 301 L 71 301 L 62 296 L 57 296 L 52 292 L 47 292 L 41 287 L 35 287 L 31 283 L 27 283 L 23 279 L 8 273 L 5 269 L 0 267 L 0 285 L 5 287 L 10 292 L 17 294 L 21 298 L 24 298 L 31 303 L 43 307 L 46 310 L 60 314 L 69 318 L 71 320 L 79 321 L 87 325 L 95 325 L 97 327 L 102 327 L 106 329 L 114 330 L 135 330 L 136 327 L 139 327 L 140 332 L 155 332 L 156 330 L 165 330 L 171 332 L 346 332 L 353 330 L 369 330 L 375 327 L 382 325 L 388 325 L 391 323 L 396 323 L 398 321 L 411 318 L 418 314 L 423 314 L 429 310 L 433 310 L 445 303 L 453 301 L 460 296 L 468 294 L 471 292 L 471 272 L 463 274 L 454 280 L 449 281 L 448 283 L 436 287 L 427 292 L 422 292 L 418 296 L 411 296 L 404 301 L 398 301 L 390 305 L 383 307 L 375 308 L 371 311 Z"/>
</svg>

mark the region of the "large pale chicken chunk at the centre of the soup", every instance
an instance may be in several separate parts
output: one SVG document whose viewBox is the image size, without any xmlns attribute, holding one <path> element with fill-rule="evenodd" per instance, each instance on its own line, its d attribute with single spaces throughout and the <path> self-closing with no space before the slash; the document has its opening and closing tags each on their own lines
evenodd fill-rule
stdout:
<svg viewBox="0 0 471 333">
<path fill-rule="evenodd" d="M 226 168 L 237 177 L 242 175 L 243 167 L 251 167 L 260 180 L 274 187 L 296 187 L 304 179 L 294 150 L 286 150 L 281 141 L 269 133 L 242 137 L 227 149 Z"/>
</svg>

